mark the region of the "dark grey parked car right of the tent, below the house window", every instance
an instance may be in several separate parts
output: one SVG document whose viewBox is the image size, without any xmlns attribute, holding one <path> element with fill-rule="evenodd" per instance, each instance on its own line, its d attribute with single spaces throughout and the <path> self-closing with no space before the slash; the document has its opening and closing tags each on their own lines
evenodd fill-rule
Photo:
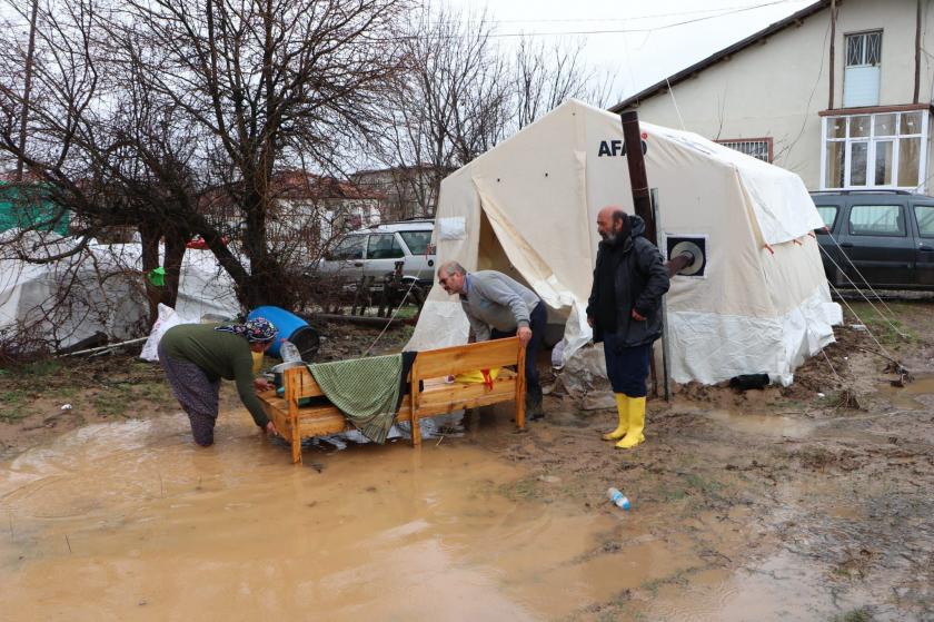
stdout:
<svg viewBox="0 0 934 622">
<path fill-rule="evenodd" d="M 827 227 L 815 233 L 834 286 L 865 287 L 865 277 L 883 289 L 934 289 L 934 197 L 904 190 L 811 197 Z"/>
</svg>

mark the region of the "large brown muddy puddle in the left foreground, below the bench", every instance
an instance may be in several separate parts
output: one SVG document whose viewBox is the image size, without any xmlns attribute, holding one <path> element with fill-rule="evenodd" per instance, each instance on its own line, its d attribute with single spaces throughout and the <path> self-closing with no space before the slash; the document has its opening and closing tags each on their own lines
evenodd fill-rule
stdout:
<svg viewBox="0 0 934 622">
<path fill-rule="evenodd" d="M 543 620 L 696 562 L 633 514 L 511 500 L 526 472 L 469 446 L 308 451 L 221 415 L 88 426 L 0 465 L 8 620 Z M 320 470 L 320 473 L 318 472 Z"/>
</svg>

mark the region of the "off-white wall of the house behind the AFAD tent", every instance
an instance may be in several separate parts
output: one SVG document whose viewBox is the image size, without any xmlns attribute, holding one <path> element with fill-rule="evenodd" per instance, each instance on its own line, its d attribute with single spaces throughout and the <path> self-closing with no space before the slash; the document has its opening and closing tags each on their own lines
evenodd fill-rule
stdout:
<svg viewBox="0 0 934 622">
<path fill-rule="evenodd" d="M 842 108 L 844 101 L 846 36 L 872 30 L 883 33 L 877 106 L 912 102 L 915 11 L 914 0 L 846 0 L 841 3 L 835 37 L 834 109 Z M 922 14 L 922 31 L 930 32 L 930 45 L 934 50 L 934 4 L 930 0 L 924 3 Z M 825 170 L 822 177 L 822 155 L 826 145 L 824 117 L 818 112 L 831 108 L 829 37 L 831 11 L 824 9 L 801 24 L 755 42 L 728 60 L 673 85 L 674 98 L 669 92 L 656 93 L 643 100 L 635 110 L 643 120 L 683 127 L 715 140 L 772 138 L 773 161 L 798 174 L 809 189 L 821 189 L 826 186 L 827 174 Z M 922 46 L 926 47 L 927 41 L 923 40 Z M 932 97 L 934 61 L 922 53 L 918 100 L 930 102 Z M 926 130 L 930 113 L 923 111 L 916 118 L 924 119 Z M 880 151 L 884 148 L 891 149 L 880 146 Z M 922 166 L 925 160 L 932 161 L 930 151 L 931 141 L 925 137 Z M 874 154 L 872 150 L 863 157 L 872 158 Z M 924 180 L 930 175 L 928 169 L 926 166 L 915 175 L 921 185 L 918 191 L 927 189 Z M 867 170 L 867 176 L 872 177 L 873 167 Z M 858 181 L 856 177 L 854 180 Z M 884 179 L 880 186 L 884 186 Z M 893 181 L 892 187 L 895 186 L 905 187 Z"/>
</svg>

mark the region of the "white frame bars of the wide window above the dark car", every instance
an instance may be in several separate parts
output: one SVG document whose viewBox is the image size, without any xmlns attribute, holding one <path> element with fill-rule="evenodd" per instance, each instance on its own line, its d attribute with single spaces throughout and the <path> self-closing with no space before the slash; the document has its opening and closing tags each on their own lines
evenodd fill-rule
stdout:
<svg viewBox="0 0 934 622">
<path fill-rule="evenodd" d="M 921 134 L 898 134 L 902 129 L 902 115 L 913 115 L 913 113 L 921 113 Z M 877 137 L 875 135 L 875 126 L 876 126 L 876 118 L 882 115 L 895 115 L 895 135 L 885 135 Z M 870 117 L 870 136 L 865 137 L 849 137 L 849 126 L 852 119 L 854 117 Z M 918 191 L 924 194 L 927 187 L 927 148 L 928 148 L 928 121 L 930 121 L 931 112 L 927 109 L 918 109 L 918 110 L 900 110 L 900 111 L 884 111 L 881 110 L 878 112 L 862 112 L 862 113 L 853 113 L 853 115 L 834 115 L 833 117 L 822 117 L 821 118 L 821 190 L 872 190 L 872 189 L 884 189 L 884 190 L 910 190 L 910 191 Z M 836 119 L 846 119 L 846 136 L 844 138 L 828 138 L 827 137 L 827 125 Z M 920 184 L 917 186 L 900 186 L 898 185 L 898 156 L 901 151 L 901 140 L 903 138 L 921 138 L 921 149 L 918 154 L 918 171 L 917 171 L 917 179 Z M 875 156 L 876 156 L 876 144 L 877 142 L 886 142 L 892 141 L 892 175 L 895 184 L 890 185 L 875 185 Z M 843 187 L 836 188 L 827 186 L 827 146 L 831 142 L 844 142 L 844 172 L 843 172 Z M 868 148 L 866 150 L 866 185 L 865 186 L 853 186 L 851 185 L 851 152 L 854 142 L 868 142 Z"/>
</svg>

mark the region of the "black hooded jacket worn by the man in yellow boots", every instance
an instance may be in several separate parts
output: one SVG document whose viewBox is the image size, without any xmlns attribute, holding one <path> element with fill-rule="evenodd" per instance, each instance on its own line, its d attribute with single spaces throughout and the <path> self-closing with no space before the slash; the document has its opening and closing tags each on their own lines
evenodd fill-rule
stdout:
<svg viewBox="0 0 934 622">
<path fill-rule="evenodd" d="M 596 319 L 599 300 L 604 295 L 615 294 L 616 333 L 624 347 L 650 344 L 662 336 L 662 296 L 668 290 L 668 269 L 662 254 L 654 244 L 643 237 L 645 221 L 638 216 L 627 216 L 629 236 L 624 238 L 616 251 L 613 240 L 600 241 L 597 265 L 594 268 L 594 285 L 587 300 L 587 317 L 594 318 L 594 343 L 603 340 L 604 327 Z M 597 273 L 604 261 L 617 261 L 614 273 L 614 293 L 602 293 Z M 633 309 L 645 317 L 644 322 L 633 317 Z"/>
</svg>

